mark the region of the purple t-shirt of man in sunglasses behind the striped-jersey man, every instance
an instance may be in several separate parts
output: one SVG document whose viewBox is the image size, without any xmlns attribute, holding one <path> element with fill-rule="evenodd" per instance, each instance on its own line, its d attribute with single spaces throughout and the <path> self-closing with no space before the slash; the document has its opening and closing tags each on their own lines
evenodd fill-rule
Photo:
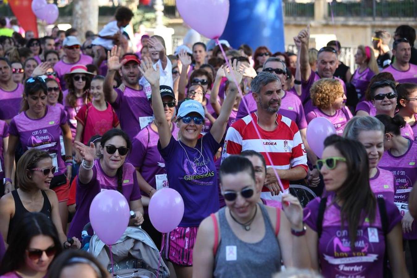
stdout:
<svg viewBox="0 0 417 278">
<path fill-rule="evenodd" d="M 249 115 L 244 102 L 246 105 L 248 105 L 250 113 L 254 113 L 256 110 L 258 110 L 256 101 L 254 100 L 252 94 L 252 92 L 248 93 L 241 100 L 239 104 L 239 110 L 236 115 L 236 120 L 240 120 L 241 118 Z M 293 120 L 297 124 L 299 130 L 307 128 L 307 121 L 304 115 L 303 105 L 301 104 L 298 96 L 285 92 L 281 99 L 281 106 L 279 107 L 278 113 Z"/>
</svg>

